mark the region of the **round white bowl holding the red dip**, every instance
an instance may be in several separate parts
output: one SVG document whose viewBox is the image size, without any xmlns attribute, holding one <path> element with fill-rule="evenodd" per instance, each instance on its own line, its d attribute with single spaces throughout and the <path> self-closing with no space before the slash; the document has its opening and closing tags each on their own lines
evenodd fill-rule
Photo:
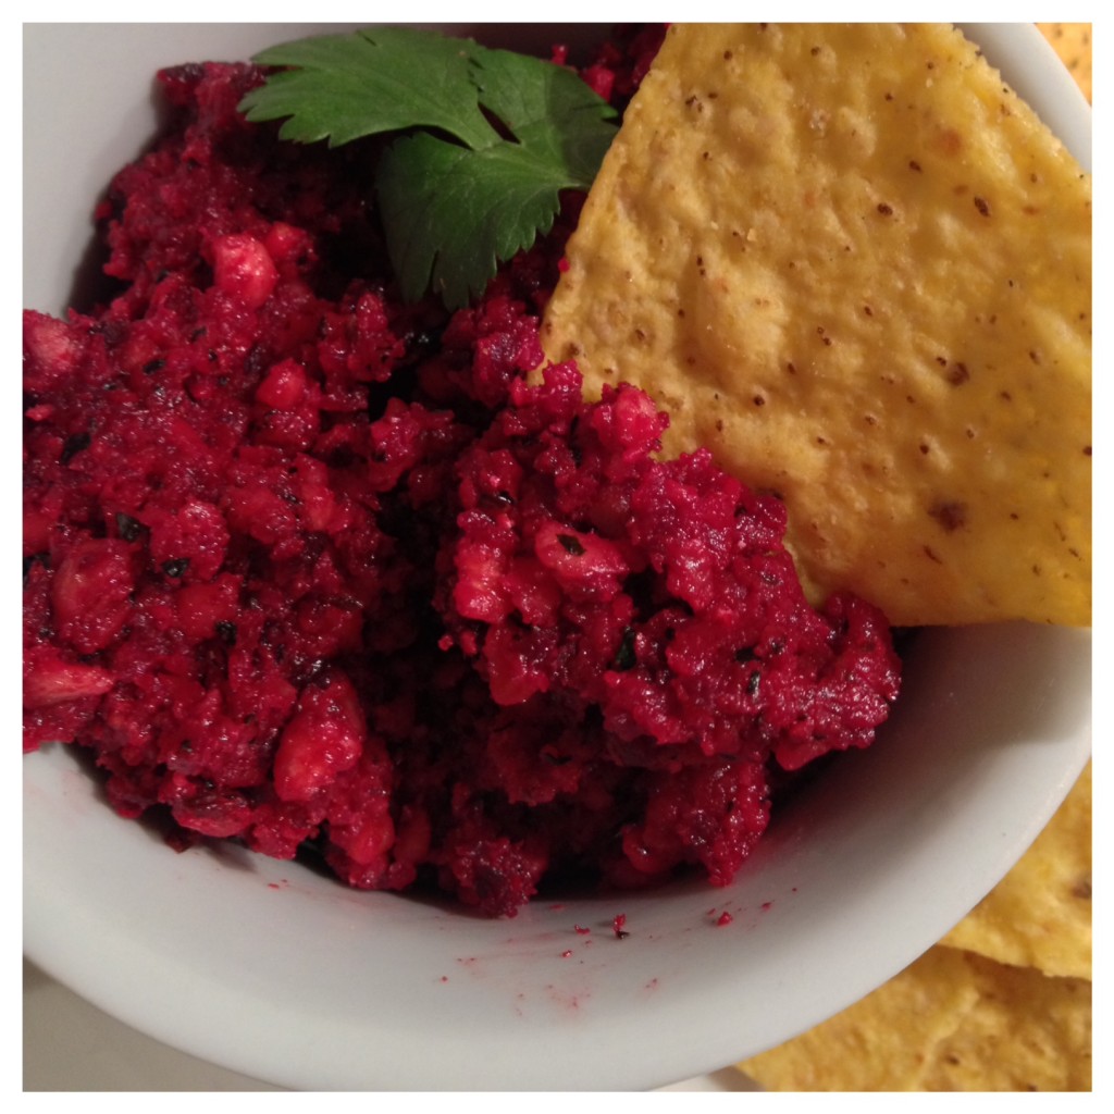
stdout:
<svg viewBox="0 0 1114 1114">
<path fill-rule="evenodd" d="M 152 131 L 158 66 L 310 30 L 25 26 L 25 304 L 61 310 L 92 198 Z M 1035 29 L 968 33 L 1089 165 L 1089 109 Z M 290 1087 L 648 1088 L 778 1044 L 913 960 L 1017 860 L 1089 747 L 1089 632 L 932 631 L 878 743 L 776 814 L 732 886 L 499 921 L 234 848 L 175 854 L 48 747 L 23 764 L 25 946 L 141 1032 Z"/>
</svg>

